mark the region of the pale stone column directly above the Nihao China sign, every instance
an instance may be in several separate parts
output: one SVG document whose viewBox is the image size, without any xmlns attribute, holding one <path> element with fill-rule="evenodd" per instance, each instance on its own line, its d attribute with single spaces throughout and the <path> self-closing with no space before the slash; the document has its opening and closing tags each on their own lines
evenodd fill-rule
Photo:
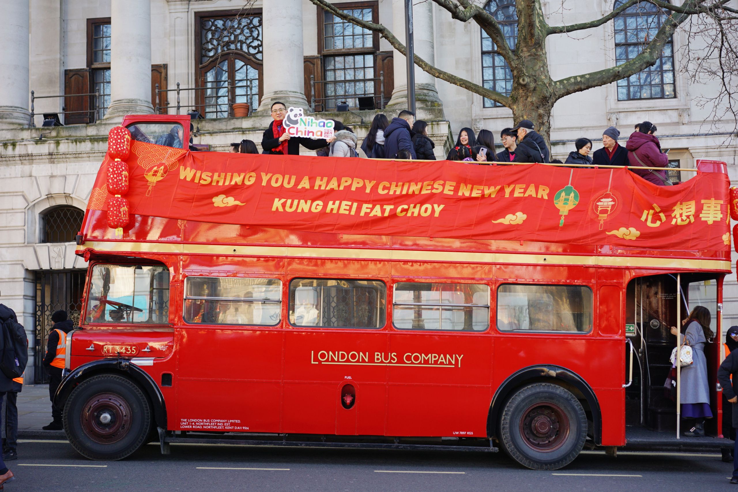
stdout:
<svg viewBox="0 0 738 492">
<path fill-rule="evenodd" d="M 259 113 L 269 114 L 275 101 L 309 111 L 303 67 L 303 1 L 263 2 L 263 97 Z"/>
</svg>

